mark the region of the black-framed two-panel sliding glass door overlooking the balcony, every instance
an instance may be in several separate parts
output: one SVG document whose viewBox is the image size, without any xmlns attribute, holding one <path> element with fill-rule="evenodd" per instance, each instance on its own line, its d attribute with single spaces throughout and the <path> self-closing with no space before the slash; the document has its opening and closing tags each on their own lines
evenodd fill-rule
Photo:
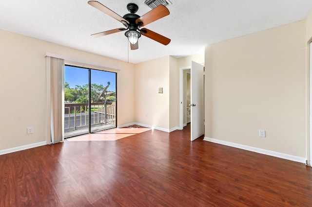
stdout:
<svg viewBox="0 0 312 207">
<path fill-rule="evenodd" d="M 64 138 L 116 128 L 115 72 L 65 66 Z"/>
</svg>

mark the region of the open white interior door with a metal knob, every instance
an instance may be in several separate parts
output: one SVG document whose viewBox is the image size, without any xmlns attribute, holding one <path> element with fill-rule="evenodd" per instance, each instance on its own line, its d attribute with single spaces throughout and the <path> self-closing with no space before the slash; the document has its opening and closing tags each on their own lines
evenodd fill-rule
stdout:
<svg viewBox="0 0 312 207">
<path fill-rule="evenodd" d="M 204 67 L 191 66 L 191 141 L 204 134 Z"/>
</svg>

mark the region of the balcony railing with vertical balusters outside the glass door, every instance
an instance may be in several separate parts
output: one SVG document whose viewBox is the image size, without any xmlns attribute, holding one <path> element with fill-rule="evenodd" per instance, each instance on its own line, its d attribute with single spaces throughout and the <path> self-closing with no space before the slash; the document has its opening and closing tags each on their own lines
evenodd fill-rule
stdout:
<svg viewBox="0 0 312 207">
<path fill-rule="evenodd" d="M 91 127 L 108 124 L 116 126 L 116 104 L 112 102 L 91 103 Z M 86 128 L 89 125 L 87 103 L 65 104 L 64 132 Z M 112 128 L 112 127 L 111 127 Z M 66 136 L 65 136 L 66 137 Z"/>
</svg>

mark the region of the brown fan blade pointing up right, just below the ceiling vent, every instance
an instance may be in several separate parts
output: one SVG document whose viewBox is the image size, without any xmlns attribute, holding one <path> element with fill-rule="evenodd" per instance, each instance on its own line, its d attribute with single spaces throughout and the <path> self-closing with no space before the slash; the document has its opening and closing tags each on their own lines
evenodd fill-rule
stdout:
<svg viewBox="0 0 312 207">
<path fill-rule="evenodd" d="M 145 26 L 149 23 L 152 23 L 153 21 L 156 21 L 156 20 L 162 18 L 162 17 L 166 17 L 169 14 L 170 14 L 170 12 L 167 9 L 167 7 L 165 7 L 164 5 L 159 5 L 155 9 L 153 9 L 153 10 L 149 11 L 148 13 L 146 13 L 145 15 L 143 15 L 142 17 L 139 17 L 136 20 L 136 23 L 141 22 L 139 25 Z"/>
</svg>

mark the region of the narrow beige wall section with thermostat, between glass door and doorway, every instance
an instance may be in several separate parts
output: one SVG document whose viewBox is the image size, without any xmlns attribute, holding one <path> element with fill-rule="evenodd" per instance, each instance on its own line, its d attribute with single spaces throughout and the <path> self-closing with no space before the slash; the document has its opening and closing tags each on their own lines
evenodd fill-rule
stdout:
<svg viewBox="0 0 312 207">
<path fill-rule="evenodd" d="M 169 130 L 170 57 L 136 64 L 135 120 L 138 123 Z M 158 93 L 158 88 L 163 93 Z"/>
</svg>

